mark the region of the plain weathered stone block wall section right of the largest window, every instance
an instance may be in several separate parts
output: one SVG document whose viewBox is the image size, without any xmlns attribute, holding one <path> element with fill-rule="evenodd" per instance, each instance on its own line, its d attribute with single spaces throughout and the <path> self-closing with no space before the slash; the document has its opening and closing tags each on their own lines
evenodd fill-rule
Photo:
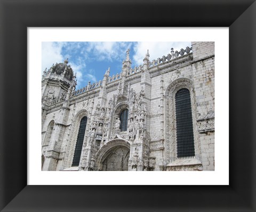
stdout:
<svg viewBox="0 0 256 212">
<path fill-rule="evenodd" d="M 204 170 L 214 170 L 214 42 L 192 42 L 197 126 Z M 197 129 L 197 130 L 198 130 Z"/>
</svg>

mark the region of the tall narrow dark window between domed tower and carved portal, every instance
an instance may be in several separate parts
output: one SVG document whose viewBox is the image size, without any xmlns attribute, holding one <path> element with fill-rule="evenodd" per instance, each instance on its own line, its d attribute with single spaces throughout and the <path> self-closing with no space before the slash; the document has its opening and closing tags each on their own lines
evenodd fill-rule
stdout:
<svg viewBox="0 0 256 212">
<path fill-rule="evenodd" d="M 78 131 L 78 135 L 77 135 L 76 148 L 75 148 L 75 153 L 74 153 L 72 166 L 78 166 L 79 165 L 81 152 L 82 152 L 82 147 L 83 147 L 83 142 L 84 142 L 84 134 L 85 134 L 86 124 L 87 124 L 87 117 L 84 116 L 82 118 L 82 120 L 80 122 L 80 126 L 79 126 L 79 131 Z"/>
</svg>

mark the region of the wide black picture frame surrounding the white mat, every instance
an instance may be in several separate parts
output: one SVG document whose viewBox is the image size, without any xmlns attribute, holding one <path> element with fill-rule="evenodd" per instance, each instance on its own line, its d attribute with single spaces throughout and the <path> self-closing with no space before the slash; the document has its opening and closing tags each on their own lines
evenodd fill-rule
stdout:
<svg viewBox="0 0 256 212">
<path fill-rule="evenodd" d="M 255 211 L 255 0 L 0 3 L 1 211 Z M 27 185 L 27 27 L 229 27 L 229 185 Z"/>
</svg>

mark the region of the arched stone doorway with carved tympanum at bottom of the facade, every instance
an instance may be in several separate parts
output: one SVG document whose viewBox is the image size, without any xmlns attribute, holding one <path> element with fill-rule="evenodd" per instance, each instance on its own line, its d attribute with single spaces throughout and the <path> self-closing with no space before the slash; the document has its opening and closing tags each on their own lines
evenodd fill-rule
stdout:
<svg viewBox="0 0 256 212">
<path fill-rule="evenodd" d="M 128 171 L 130 143 L 113 139 L 106 143 L 95 156 L 99 171 Z"/>
</svg>

